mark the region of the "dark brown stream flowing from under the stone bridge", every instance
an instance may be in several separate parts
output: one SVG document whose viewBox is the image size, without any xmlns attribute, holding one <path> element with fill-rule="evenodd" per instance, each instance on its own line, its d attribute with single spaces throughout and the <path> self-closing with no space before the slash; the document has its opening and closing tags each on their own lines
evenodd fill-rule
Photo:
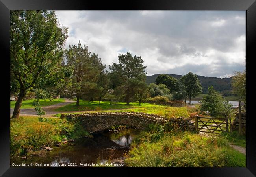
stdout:
<svg viewBox="0 0 256 177">
<path fill-rule="evenodd" d="M 74 142 L 74 145 L 53 146 L 44 157 L 13 157 L 10 164 L 13 166 L 13 163 L 33 163 L 34 167 L 81 167 L 82 164 L 88 167 L 96 163 L 109 163 L 129 152 L 130 144 L 138 133 L 133 128 L 121 129 L 119 133 L 109 133 L 106 130 L 94 133 L 93 138 Z"/>
</svg>

